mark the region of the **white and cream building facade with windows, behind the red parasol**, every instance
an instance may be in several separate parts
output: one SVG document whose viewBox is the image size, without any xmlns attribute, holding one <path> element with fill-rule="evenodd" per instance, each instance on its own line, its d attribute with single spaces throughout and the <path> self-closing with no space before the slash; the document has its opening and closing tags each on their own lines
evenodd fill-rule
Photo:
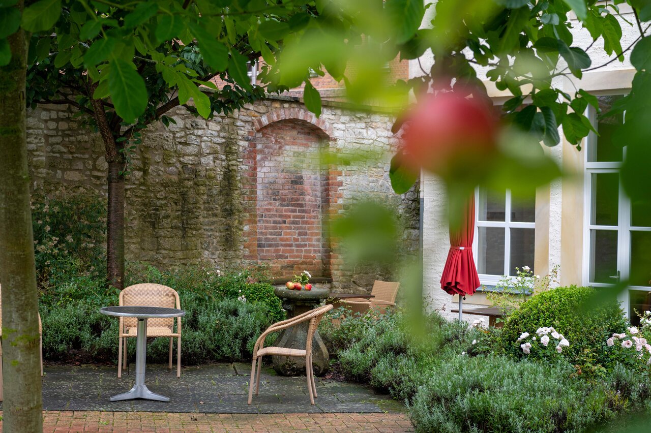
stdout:
<svg viewBox="0 0 651 433">
<path fill-rule="evenodd" d="M 619 7 L 623 17 L 634 23 L 630 7 Z M 621 17 L 618 21 L 623 33 L 622 47 L 628 47 L 639 36 L 639 29 Z M 575 19 L 573 23 L 572 45 L 590 46 L 592 38 L 588 31 Z M 592 67 L 611 60 L 603 50 L 603 40 L 598 40 L 587 53 Z M 410 64 L 411 75 L 430 70 L 432 61 L 427 52 L 420 65 L 417 61 Z M 598 96 L 602 112 L 606 112 L 618 96 L 630 90 L 634 74 L 627 56 L 624 62 L 615 60 L 584 73 L 582 79 L 557 77 L 554 84 L 571 95 L 577 88 L 587 90 Z M 488 80 L 485 83 L 496 105 L 510 98 L 508 90 L 499 91 Z M 636 257 L 641 257 L 641 248 L 651 241 L 651 217 L 635 209 L 622 190 L 618 169 L 626 147 L 622 150 L 622 144 L 613 142 L 611 135 L 623 116 L 598 119 L 594 109 L 589 110 L 599 136 L 590 134 L 581 143 L 580 151 L 563 138 L 558 146 L 546 148 L 570 176 L 531 191 L 526 199 L 515 200 L 508 190 L 500 194 L 477 190 L 473 252 L 482 288 L 467 296 L 465 311 L 489 305 L 486 291 L 492 290 L 501 276 L 515 275 L 515 267 L 525 265 L 540 276 L 558 265 L 561 285 L 604 287 L 618 278 L 628 280 L 630 288 L 620 294 L 622 308 L 631 316 L 633 309 L 650 308 L 651 266 Z M 562 137 L 561 128 L 559 133 Z M 443 183 L 423 173 L 421 197 L 424 292 L 431 308 L 454 318 L 457 314 L 450 309 L 456 308 L 458 298 L 441 290 L 439 283 L 450 246 Z M 477 316 L 464 314 L 465 321 L 473 319 Z"/>
</svg>

